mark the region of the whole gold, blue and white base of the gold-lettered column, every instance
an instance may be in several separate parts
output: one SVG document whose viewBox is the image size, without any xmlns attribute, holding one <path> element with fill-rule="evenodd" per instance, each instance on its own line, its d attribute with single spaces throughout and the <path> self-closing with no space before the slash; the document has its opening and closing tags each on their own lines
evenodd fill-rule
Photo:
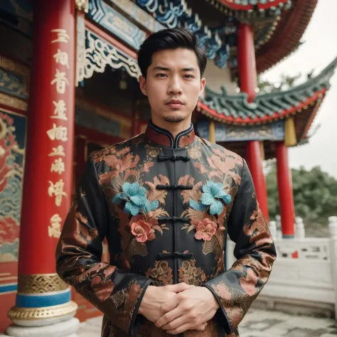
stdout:
<svg viewBox="0 0 337 337">
<path fill-rule="evenodd" d="M 18 274 L 16 306 L 7 316 L 14 323 L 6 333 L 13 337 L 67 337 L 76 332 L 77 304 L 71 289 L 58 274 Z"/>
</svg>

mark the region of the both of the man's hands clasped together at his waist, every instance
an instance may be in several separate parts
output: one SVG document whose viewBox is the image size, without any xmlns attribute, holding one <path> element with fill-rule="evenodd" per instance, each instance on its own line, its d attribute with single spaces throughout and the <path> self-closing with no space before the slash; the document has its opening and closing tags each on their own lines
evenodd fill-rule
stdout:
<svg viewBox="0 0 337 337">
<path fill-rule="evenodd" d="M 204 331 L 218 308 L 218 302 L 207 288 L 179 283 L 165 287 L 149 286 L 139 314 L 167 333 L 178 334 L 187 330 Z"/>
</svg>

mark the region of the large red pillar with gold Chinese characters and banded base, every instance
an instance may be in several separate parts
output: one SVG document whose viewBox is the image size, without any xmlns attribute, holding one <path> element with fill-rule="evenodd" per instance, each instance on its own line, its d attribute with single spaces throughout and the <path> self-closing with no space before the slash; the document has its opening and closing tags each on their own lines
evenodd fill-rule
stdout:
<svg viewBox="0 0 337 337">
<path fill-rule="evenodd" d="M 33 6 L 18 294 L 16 307 L 9 311 L 11 319 L 22 320 L 28 315 L 17 308 L 32 311 L 31 319 L 43 316 L 42 306 L 64 306 L 63 313 L 56 310 L 49 317 L 76 311 L 70 289 L 55 273 L 55 247 L 73 191 L 75 1 L 36 0 Z"/>
</svg>

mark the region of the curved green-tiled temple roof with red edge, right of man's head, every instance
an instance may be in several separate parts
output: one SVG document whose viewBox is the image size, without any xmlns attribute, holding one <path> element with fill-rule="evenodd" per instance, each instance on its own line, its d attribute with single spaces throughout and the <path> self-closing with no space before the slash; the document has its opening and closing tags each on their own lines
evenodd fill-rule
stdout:
<svg viewBox="0 0 337 337">
<path fill-rule="evenodd" d="M 329 80 L 336 66 L 337 58 L 319 75 L 303 84 L 283 92 L 257 95 L 251 103 L 247 101 L 245 93 L 228 95 L 225 87 L 222 87 L 222 93 L 206 87 L 205 98 L 199 101 L 198 109 L 210 119 L 241 125 L 272 122 L 298 114 L 309 107 L 314 112 L 330 87 Z"/>
</svg>

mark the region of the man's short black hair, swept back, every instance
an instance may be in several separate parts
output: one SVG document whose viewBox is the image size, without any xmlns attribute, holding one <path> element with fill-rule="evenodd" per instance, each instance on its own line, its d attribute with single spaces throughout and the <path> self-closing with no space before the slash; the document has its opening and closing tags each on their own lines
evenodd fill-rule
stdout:
<svg viewBox="0 0 337 337">
<path fill-rule="evenodd" d="M 200 76 L 206 68 L 207 57 L 198 44 L 198 38 L 187 28 L 166 28 L 151 34 L 138 50 L 138 64 L 141 75 L 146 77 L 147 68 L 151 65 L 152 55 L 160 50 L 185 48 L 193 50 L 198 59 Z"/>
</svg>

